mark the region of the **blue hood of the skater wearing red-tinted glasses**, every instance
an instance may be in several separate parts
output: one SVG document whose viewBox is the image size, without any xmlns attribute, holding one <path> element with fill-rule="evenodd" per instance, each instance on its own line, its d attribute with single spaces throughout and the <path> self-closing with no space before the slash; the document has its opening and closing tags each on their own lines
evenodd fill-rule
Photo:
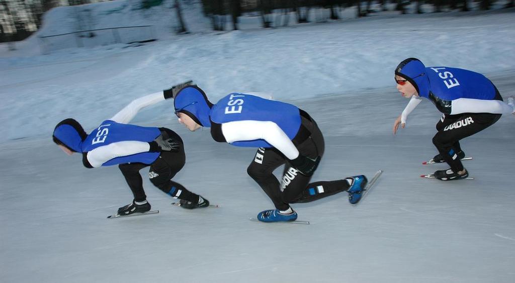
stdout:
<svg viewBox="0 0 515 283">
<path fill-rule="evenodd" d="M 421 97 L 429 96 L 429 78 L 425 66 L 417 58 L 408 58 L 395 68 L 395 74 L 410 82 Z"/>
</svg>

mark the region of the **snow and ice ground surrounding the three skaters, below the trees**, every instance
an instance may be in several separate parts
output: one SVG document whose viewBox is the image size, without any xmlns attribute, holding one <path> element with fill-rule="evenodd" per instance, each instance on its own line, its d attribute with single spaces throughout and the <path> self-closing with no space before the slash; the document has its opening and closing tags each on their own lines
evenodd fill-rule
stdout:
<svg viewBox="0 0 515 283">
<path fill-rule="evenodd" d="M 101 4 L 100 4 L 101 5 Z M 513 10 L 377 14 L 279 29 L 197 32 L 140 47 L 0 52 L 0 281 L 2 282 L 513 282 L 515 117 L 462 142 L 475 180 L 418 176 L 436 154 L 440 115 L 428 101 L 392 135 L 407 103 L 393 68 L 426 65 L 484 72 L 515 95 Z M 108 220 L 132 195 L 116 166 L 85 169 L 51 141 L 57 122 L 95 127 L 150 92 L 195 80 L 213 102 L 262 91 L 309 112 L 326 153 L 313 180 L 384 169 L 353 207 L 346 194 L 296 204 L 310 225 L 265 224 L 272 208 L 246 175 L 254 149 L 190 133 L 171 101 L 133 121 L 166 126 L 185 142 L 175 180 L 219 204 L 171 206 L 145 178 L 157 215 Z M 146 176 L 145 169 L 142 174 Z"/>
</svg>

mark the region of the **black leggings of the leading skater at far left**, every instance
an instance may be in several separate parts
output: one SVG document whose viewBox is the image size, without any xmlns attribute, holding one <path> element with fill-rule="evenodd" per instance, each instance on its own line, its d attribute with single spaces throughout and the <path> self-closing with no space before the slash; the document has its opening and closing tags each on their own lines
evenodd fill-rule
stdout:
<svg viewBox="0 0 515 283">
<path fill-rule="evenodd" d="M 178 152 L 161 152 L 159 157 L 152 162 L 152 164 L 124 163 L 118 165 L 134 195 L 134 200 L 144 201 L 147 199 L 145 191 L 143 190 L 143 179 L 140 175 L 140 170 L 150 166 L 148 177 L 152 184 L 157 186 L 161 191 L 174 198 L 195 203 L 198 202 L 198 195 L 186 190 L 183 185 L 171 180 L 171 178 L 182 169 L 186 161 L 181 138 L 170 129 L 160 128 L 160 130 L 166 131 L 169 137 L 174 138 L 180 143 L 181 146 Z"/>
</svg>

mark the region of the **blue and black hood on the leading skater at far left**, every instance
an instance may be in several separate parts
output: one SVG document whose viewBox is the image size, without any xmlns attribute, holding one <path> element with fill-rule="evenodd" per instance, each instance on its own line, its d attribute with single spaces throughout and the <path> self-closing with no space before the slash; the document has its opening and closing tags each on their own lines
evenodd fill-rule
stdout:
<svg viewBox="0 0 515 283">
<path fill-rule="evenodd" d="M 65 119 L 54 128 L 52 138 L 57 144 L 62 144 L 73 152 L 82 153 L 82 141 L 88 137 L 79 122 L 74 119 Z"/>
</svg>

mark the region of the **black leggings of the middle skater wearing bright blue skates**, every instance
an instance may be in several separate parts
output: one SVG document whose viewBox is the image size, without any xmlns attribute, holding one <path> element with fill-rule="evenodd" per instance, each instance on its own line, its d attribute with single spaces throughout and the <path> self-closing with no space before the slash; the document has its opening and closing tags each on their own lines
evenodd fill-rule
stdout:
<svg viewBox="0 0 515 283">
<path fill-rule="evenodd" d="M 302 125 L 311 132 L 311 135 L 296 145 L 299 153 L 311 158 L 322 157 L 324 140 L 316 122 L 309 117 L 302 117 Z M 285 164 L 283 177 L 279 182 L 272 172 L 283 164 Z M 247 173 L 261 186 L 274 206 L 283 211 L 288 209 L 289 203 L 310 202 L 347 191 L 349 188 L 345 179 L 310 183 L 311 177 L 297 172 L 276 148 L 259 148 L 254 160 L 247 168 Z"/>
</svg>

